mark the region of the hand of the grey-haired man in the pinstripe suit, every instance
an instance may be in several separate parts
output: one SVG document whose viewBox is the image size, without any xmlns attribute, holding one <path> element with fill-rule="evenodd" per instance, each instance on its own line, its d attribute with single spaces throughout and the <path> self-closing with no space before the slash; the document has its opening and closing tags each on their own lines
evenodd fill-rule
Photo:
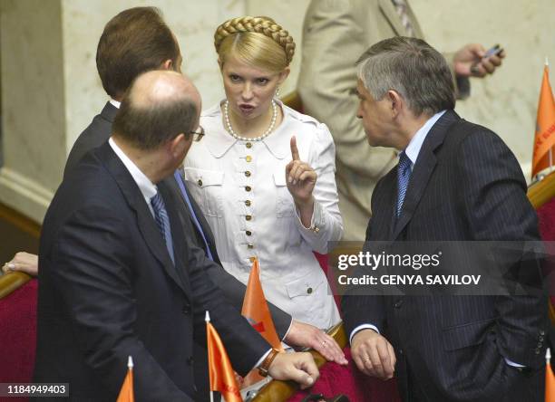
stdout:
<svg viewBox="0 0 555 402">
<path fill-rule="evenodd" d="M 375 330 L 356 332 L 351 354 L 356 367 L 366 375 L 381 379 L 393 377 L 396 361 L 393 346 Z"/>
</svg>

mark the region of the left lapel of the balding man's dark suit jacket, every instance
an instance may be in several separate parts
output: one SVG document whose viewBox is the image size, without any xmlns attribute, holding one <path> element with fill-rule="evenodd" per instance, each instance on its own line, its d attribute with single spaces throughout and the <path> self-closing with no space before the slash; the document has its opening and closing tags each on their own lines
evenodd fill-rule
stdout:
<svg viewBox="0 0 555 402">
<path fill-rule="evenodd" d="M 168 253 L 166 244 L 161 237 L 160 230 L 154 221 L 151 210 L 147 206 L 146 201 L 141 194 L 141 190 L 133 180 L 133 177 L 131 177 L 131 174 L 127 168 L 125 168 L 120 158 L 118 158 L 113 152 L 112 147 L 108 142 L 104 143 L 99 148 L 99 156 L 102 158 L 104 166 L 117 182 L 118 187 L 122 190 L 122 194 L 128 205 L 133 211 L 135 211 L 135 214 L 137 215 L 137 225 L 139 226 L 141 235 L 151 250 L 151 253 L 161 263 L 164 271 L 170 276 L 170 278 L 176 282 L 183 292 L 188 294 L 184 284 L 181 282 L 175 266 L 171 262 L 170 254 Z"/>
</svg>

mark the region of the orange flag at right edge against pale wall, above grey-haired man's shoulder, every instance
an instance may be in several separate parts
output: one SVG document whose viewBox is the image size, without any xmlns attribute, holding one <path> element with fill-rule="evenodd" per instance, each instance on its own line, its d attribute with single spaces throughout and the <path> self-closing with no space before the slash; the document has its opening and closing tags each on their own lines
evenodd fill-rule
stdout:
<svg viewBox="0 0 555 402">
<path fill-rule="evenodd" d="M 532 155 L 532 177 L 541 170 L 550 167 L 550 149 L 555 154 L 555 99 L 550 86 L 550 69 L 546 63 L 541 81 L 538 118 L 536 120 L 536 137 Z M 555 162 L 555 155 L 553 155 Z"/>
</svg>

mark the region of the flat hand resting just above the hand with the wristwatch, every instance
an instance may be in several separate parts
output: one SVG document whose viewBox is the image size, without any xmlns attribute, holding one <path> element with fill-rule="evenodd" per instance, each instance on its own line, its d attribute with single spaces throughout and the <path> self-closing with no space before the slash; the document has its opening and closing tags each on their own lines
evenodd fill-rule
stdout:
<svg viewBox="0 0 555 402">
<path fill-rule="evenodd" d="M 342 365 L 348 363 L 336 340 L 313 325 L 293 320 L 284 341 L 292 346 L 315 349 L 327 361 L 335 361 Z"/>
</svg>

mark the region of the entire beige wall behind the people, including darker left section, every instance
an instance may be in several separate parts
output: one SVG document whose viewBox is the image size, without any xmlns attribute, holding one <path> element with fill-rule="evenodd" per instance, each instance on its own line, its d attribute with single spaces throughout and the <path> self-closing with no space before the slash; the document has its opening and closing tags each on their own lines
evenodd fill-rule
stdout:
<svg viewBox="0 0 555 402">
<path fill-rule="evenodd" d="M 448 3 L 449 6 L 446 6 Z M 528 173 L 545 56 L 555 62 L 553 0 L 412 0 L 428 42 L 441 50 L 463 43 L 501 43 L 508 57 L 487 80 L 472 81 L 472 99 L 457 110 L 498 132 Z M 184 72 L 199 86 L 204 107 L 223 96 L 212 35 L 225 19 L 269 15 L 297 43 L 308 0 L 0 0 L 4 168 L 0 202 L 41 220 L 74 139 L 101 110 L 106 95 L 94 54 L 103 25 L 133 5 L 161 8 L 180 42 Z M 555 81 L 555 74 L 552 74 Z"/>
</svg>

